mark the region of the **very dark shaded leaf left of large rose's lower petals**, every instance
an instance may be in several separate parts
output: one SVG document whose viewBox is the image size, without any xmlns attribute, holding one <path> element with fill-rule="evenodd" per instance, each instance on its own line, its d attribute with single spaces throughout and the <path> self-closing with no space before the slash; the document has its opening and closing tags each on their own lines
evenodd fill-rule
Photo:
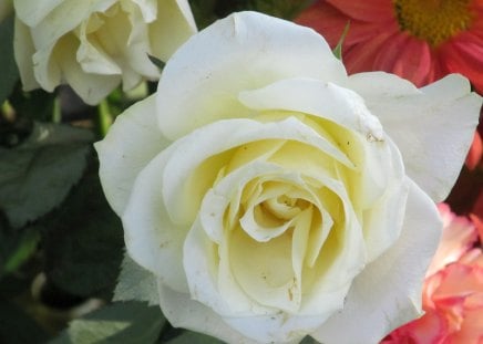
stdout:
<svg viewBox="0 0 483 344">
<path fill-rule="evenodd" d="M 121 220 L 102 191 L 97 165 L 90 166 L 62 207 L 42 226 L 49 280 L 74 295 L 111 298 L 124 238 Z"/>
</svg>

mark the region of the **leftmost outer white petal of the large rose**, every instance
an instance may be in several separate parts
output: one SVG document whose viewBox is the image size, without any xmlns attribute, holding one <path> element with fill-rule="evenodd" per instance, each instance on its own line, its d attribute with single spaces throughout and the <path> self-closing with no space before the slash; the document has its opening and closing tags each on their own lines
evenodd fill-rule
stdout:
<svg viewBox="0 0 483 344">
<path fill-rule="evenodd" d="M 96 143 L 104 194 L 121 216 L 138 173 L 168 145 L 157 129 L 155 100 L 150 96 L 129 107 Z"/>
</svg>

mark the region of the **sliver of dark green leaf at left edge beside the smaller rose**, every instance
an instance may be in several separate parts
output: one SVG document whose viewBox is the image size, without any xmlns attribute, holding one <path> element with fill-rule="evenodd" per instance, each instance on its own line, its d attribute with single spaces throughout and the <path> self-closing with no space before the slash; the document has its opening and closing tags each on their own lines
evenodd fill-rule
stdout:
<svg viewBox="0 0 483 344">
<path fill-rule="evenodd" d="M 13 58 L 13 15 L 0 23 L 0 104 L 10 95 L 19 79 Z"/>
</svg>

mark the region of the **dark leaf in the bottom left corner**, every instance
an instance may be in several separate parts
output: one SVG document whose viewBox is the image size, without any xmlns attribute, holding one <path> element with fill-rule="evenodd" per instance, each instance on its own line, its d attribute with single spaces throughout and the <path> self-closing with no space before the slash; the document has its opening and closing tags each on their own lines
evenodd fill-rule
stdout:
<svg viewBox="0 0 483 344">
<path fill-rule="evenodd" d="M 16 304 L 0 299 L 0 343 L 45 343 L 47 334 Z"/>
</svg>

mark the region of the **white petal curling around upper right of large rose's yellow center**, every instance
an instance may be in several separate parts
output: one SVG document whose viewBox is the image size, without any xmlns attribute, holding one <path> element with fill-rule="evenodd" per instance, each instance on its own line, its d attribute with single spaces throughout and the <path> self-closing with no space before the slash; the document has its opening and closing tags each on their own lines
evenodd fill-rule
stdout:
<svg viewBox="0 0 483 344">
<path fill-rule="evenodd" d="M 410 90 L 414 90 L 414 87 L 412 86 Z M 281 96 L 284 94 L 291 96 Z M 403 212 L 400 212 L 401 215 L 397 220 L 395 212 L 403 209 L 407 197 L 407 188 L 401 188 L 404 176 L 403 163 L 398 148 L 389 137 L 384 137 L 379 121 L 368 111 L 363 100 L 358 94 L 330 83 L 291 79 L 276 82 L 259 90 L 242 92 L 239 98 L 246 106 L 258 111 L 297 111 L 327 118 L 361 133 L 364 139 L 359 139 L 359 142 L 347 134 L 340 136 L 352 142 L 351 149 L 362 146 L 363 157 L 358 157 L 357 161 L 359 168 L 363 170 L 362 180 L 360 185 L 353 186 L 354 189 L 362 191 L 359 199 L 353 200 L 358 202 L 356 206 L 358 209 L 372 207 L 369 208 L 364 219 L 369 261 L 377 258 L 398 238 L 399 230 L 397 229 L 401 228 Z M 330 134 L 333 135 L 333 133 Z M 387 143 L 376 146 L 368 144 L 366 137 L 380 137 Z M 352 161 L 356 160 L 352 156 L 351 158 Z M 305 167 L 300 168 L 308 170 Z M 391 187 L 387 189 L 387 185 L 391 185 Z M 384 196 L 380 199 L 382 194 Z M 374 201 L 378 204 L 374 205 Z M 388 222 L 393 226 L 393 231 L 387 230 Z"/>
</svg>

